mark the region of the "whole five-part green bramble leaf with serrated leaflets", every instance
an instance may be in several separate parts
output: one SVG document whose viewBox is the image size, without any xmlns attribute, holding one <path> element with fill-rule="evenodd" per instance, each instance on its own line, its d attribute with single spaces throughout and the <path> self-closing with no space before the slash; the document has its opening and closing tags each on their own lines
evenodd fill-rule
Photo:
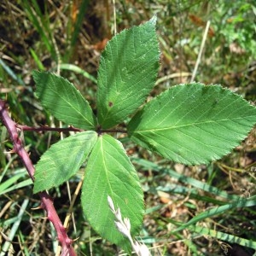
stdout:
<svg viewBox="0 0 256 256">
<path fill-rule="evenodd" d="M 67 79 L 33 72 L 44 108 L 71 125 L 67 131 L 78 131 L 42 155 L 32 176 L 34 193 L 58 187 L 86 162 L 84 216 L 103 238 L 127 252 L 131 243 L 117 229 L 114 209 L 129 219 L 135 236 L 143 223 L 143 189 L 122 143 L 108 133 L 126 133 L 133 143 L 168 160 L 199 165 L 229 154 L 256 123 L 256 108 L 217 84 L 178 84 L 145 103 L 159 70 L 155 24 L 154 16 L 108 42 L 98 69 L 96 115 Z M 237 207 L 243 205 L 253 206 L 245 201 Z"/>
</svg>

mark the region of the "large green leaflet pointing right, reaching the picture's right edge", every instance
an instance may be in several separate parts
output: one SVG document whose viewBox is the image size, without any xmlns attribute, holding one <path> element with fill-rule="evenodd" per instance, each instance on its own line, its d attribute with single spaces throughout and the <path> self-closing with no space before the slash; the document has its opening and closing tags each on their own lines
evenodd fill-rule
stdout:
<svg viewBox="0 0 256 256">
<path fill-rule="evenodd" d="M 180 84 L 128 124 L 131 140 L 167 159 L 202 164 L 230 153 L 256 122 L 256 108 L 219 85 Z"/>
</svg>

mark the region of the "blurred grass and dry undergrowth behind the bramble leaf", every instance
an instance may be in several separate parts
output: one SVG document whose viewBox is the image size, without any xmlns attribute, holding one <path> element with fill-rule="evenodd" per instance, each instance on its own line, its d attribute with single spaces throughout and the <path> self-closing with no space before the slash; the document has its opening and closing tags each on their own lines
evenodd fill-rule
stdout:
<svg viewBox="0 0 256 256">
<path fill-rule="evenodd" d="M 196 81 L 222 84 L 255 101 L 255 9 L 253 1 L 2 1 L 0 3 L 0 93 L 7 97 L 12 118 L 25 125 L 60 125 L 34 96 L 32 70 L 60 72 L 82 91 L 95 107 L 96 70 L 99 55 L 108 39 L 125 27 L 138 25 L 154 14 L 158 15 L 157 32 L 162 51 L 159 78 L 151 96 L 179 83 L 189 82 L 195 67 L 201 38 L 207 20 L 211 20 L 207 43 L 201 58 Z M 150 97 L 148 98 L 148 100 Z M 12 246 L 26 255 L 52 255 L 55 233 L 44 212 L 38 207 L 37 195 L 32 195 L 32 183 L 14 154 L 7 132 L 1 129 L 0 150 L 0 242 L 18 224 Z M 33 163 L 49 145 L 60 139 L 57 133 L 21 134 Z M 62 135 L 61 135 L 62 136 Z M 66 137 L 67 135 L 63 135 Z M 255 208 L 225 209 L 212 218 L 201 218 L 201 231 L 181 229 L 179 224 L 193 220 L 195 215 L 224 201 L 255 195 L 255 131 L 232 154 L 205 166 L 183 166 L 148 153 L 127 143 L 126 152 L 136 165 L 143 183 L 147 215 L 141 237 L 152 253 L 162 255 L 193 255 L 244 253 L 253 249 L 221 240 L 223 232 L 247 240 L 255 240 Z M 173 172 L 173 170 L 175 172 Z M 49 191 L 55 207 L 64 220 L 70 205 L 68 187 L 74 194 L 81 173 L 69 184 Z M 214 190 L 217 189 L 217 190 Z M 224 201 L 223 201 L 224 200 Z M 22 209 L 26 211 L 21 211 Z M 90 229 L 81 214 L 79 200 L 73 205 L 73 219 L 68 226 L 81 255 L 113 255 L 116 248 L 102 241 Z M 21 212 L 21 213 L 20 213 Z M 199 229 L 199 228 L 197 228 Z M 209 231 L 210 230 L 210 231 Z M 212 234 L 212 233 L 211 233 Z M 215 237 L 215 238 L 214 238 Z M 231 245 L 231 247 L 230 247 Z"/>
</svg>

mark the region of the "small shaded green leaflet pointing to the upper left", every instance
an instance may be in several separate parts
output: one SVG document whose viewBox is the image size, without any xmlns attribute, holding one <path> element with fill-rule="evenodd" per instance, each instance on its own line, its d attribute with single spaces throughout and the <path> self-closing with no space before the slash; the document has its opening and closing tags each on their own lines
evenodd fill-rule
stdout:
<svg viewBox="0 0 256 256">
<path fill-rule="evenodd" d="M 56 119 L 81 129 L 95 130 L 96 118 L 89 103 L 67 79 L 53 73 L 33 72 L 36 95 Z"/>
</svg>

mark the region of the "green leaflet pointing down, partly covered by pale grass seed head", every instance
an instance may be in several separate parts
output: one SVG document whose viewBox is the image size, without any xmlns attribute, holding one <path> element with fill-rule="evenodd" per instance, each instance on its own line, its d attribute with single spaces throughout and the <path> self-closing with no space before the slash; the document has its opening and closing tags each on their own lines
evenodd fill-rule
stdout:
<svg viewBox="0 0 256 256">
<path fill-rule="evenodd" d="M 143 221 L 143 190 L 137 172 L 122 144 L 113 137 L 98 138 L 91 151 L 84 175 L 82 207 L 90 225 L 103 238 L 129 248 L 128 240 L 116 229 L 108 195 L 123 218 L 130 218 L 131 234 L 137 233 Z"/>
</svg>

